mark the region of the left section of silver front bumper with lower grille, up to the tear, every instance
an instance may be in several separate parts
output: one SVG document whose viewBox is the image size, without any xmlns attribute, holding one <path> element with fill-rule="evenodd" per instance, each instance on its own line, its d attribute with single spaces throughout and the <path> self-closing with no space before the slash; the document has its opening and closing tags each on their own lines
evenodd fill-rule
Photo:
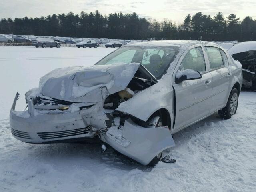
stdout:
<svg viewBox="0 0 256 192">
<path fill-rule="evenodd" d="M 15 111 L 18 94 L 10 111 L 10 126 L 13 136 L 23 142 L 46 143 L 73 138 L 93 137 L 90 124 L 78 112 L 60 114 L 35 114 L 32 101 L 28 111 Z"/>
</svg>

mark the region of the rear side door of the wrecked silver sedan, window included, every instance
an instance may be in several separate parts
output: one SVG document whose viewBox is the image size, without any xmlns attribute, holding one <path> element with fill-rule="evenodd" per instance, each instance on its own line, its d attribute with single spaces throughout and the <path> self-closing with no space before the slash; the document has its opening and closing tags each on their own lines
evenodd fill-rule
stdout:
<svg viewBox="0 0 256 192">
<path fill-rule="evenodd" d="M 212 106 L 211 112 L 226 106 L 230 94 L 231 70 L 226 53 L 217 46 L 204 46 L 212 74 Z"/>
</svg>

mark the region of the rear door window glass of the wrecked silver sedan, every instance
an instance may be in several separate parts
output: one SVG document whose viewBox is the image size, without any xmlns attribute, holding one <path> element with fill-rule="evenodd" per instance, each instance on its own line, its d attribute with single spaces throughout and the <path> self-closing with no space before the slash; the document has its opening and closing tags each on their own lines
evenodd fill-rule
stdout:
<svg viewBox="0 0 256 192">
<path fill-rule="evenodd" d="M 216 69 L 224 66 L 220 49 L 216 47 L 206 47 L 206 52 L 209 57 L 210 68 Z"/>
</svg>

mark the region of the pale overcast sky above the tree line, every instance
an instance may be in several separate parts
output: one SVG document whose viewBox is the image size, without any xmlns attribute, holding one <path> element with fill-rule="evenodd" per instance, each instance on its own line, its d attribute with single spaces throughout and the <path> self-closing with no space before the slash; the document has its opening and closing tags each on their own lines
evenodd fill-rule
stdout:
<svg viewBox="0 0 256 192">
<path fill-rule="evenodd" d="M 181 23 L 187 14 L 202 12 L 214 16 L 235 13 L 240 19 L 256 19 L 256 0 L 0 0 L 0 18 L 47 16 L 53 13 L 79 14 L 81 11 L 101 14 L 136 12 L 141 17 Z"/>
</svg>

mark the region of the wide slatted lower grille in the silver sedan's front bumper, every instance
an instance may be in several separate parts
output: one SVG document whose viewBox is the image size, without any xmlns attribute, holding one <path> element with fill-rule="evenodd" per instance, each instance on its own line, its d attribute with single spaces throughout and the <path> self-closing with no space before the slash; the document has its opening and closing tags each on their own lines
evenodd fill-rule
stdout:
<svg viewBox="0 0 256 192">
<path fill-rule="evenodd" d="M 56 139 L 75 135 L 82 135 L 90 132 L 90 125 L 86 128 L 73 129 L 68 131 L 54 131 L 37 133 L 41 139 Z"/>
</svg>

